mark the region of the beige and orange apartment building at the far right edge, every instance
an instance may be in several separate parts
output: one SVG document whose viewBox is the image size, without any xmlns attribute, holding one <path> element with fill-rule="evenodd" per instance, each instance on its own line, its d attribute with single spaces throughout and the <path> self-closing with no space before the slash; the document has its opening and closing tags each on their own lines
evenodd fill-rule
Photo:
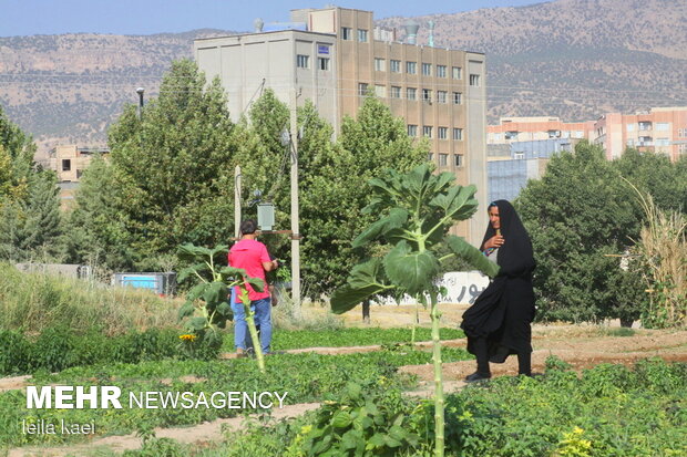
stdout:
<svg viewBox="0 0 687 457">
<path fill-rule="evenodd" d="M 627 147 L 635 147 L 677 160 L 687 154 L 687 106 L 605 114 L 595 123 L 594 142 L 604 147 L 608 159 L 619 157 Z"/>
</svg>

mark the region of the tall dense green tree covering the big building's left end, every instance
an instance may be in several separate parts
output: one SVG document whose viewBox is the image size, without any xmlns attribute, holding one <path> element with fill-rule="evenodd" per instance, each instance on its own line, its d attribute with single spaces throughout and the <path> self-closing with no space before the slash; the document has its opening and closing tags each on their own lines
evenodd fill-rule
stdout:
<svg viewBox="0 0 687 457">
<path fill-rule="evenodd" d="M 102 166 L 91 178 L 109 183 L 111 196 L 81 198 L 74 218 L 114 222 L 84 238 L 117 240 L 111 267 L 139 269 L 160 268 L 160 256 L 184 242 L 225 240 L 233 225 L 233 128 L 218 81 L 206 86 L 195 63 L 174 62 L 141 118 L 127 106 L 110 129 L 111 169 Z"/>
</svg>

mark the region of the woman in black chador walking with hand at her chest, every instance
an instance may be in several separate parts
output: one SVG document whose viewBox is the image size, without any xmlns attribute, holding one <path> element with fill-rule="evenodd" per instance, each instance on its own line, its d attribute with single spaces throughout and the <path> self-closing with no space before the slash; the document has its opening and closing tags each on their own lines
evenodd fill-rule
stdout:
<svg viewBox="0 0 687 457">
<path fill-rule="evenodd" d="M 500 270 L 463 314 L 468 351 L 478 359 L 478 371 L 465 378 L 468 382 L 490 378 L 489 362 L 503 363 L 510 354 L 517 354 L 519 374 L 530 376 L 532 370 L 532 241 L 509 201 L 493 201 L 488 211 L 489 226 L 480 250 Z"/>
</svg>

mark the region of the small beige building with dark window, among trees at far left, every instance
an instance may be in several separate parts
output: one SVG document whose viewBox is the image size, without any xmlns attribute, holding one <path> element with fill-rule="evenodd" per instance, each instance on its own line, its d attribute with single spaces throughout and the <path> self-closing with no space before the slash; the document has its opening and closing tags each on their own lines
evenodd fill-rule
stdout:
<svg viewBox="0 0 687 457">
<path fill-rule="evenodd" d="M 107 148 L 78 147 L 76 145 L 55 146 L 49 153 L 50 168 L 58 174 L 62 207 L 68 207 L 74 198 L 81 175 L 95 154 L 110 154 Z"/>
</svg>

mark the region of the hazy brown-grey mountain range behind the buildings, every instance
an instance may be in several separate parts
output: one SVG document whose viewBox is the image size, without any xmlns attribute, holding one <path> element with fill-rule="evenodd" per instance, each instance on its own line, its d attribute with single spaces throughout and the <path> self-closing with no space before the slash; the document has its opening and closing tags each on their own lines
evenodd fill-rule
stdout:
<svg viewBox="0 0 687 457">
<path fill-rule="evenodd" d="M 377 24 L 400 31 L 409 20 L 421 24 L 418 44 L 431 20 L 434 45 L 486 54 L 490 123 L 687 105 L 685 0 L 557 0 Z M 102 146 L 123 104 L 137 103 L 136 87 L 155 96 L 171 62 L 193 58 L 194 39 L 234 33 L 0 38 L 0 105 L 41 155 L 57 144 Z"/>
</svg>

